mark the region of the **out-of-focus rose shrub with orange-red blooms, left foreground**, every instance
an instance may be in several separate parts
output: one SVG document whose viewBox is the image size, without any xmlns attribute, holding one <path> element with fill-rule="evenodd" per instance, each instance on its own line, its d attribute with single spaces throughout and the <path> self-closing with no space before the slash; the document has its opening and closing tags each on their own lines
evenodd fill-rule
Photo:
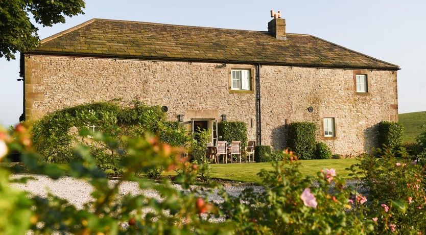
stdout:
<svg viewBox="0 0 426 235">
<path fill-rule="evenodd" d="M 93 135 L 93 139 L 103 145 L 119 141 L 103 134 Z M 11 179 L 9 170 L 2 164 L 0 233 L 192 234 L 198 231 L 203 234 L 224 234 L 232 230 L 231 223 L 221 223 L 218 226 L 211 222 L 212 218 L 219 217 L 219 210 L 208 202 L 208 191 L 203 190 L 205 184 L 195 181 L 197 168 L 178 157 L 179 149 L 148 136 L 130 139 L 125 151 L 118 146 L 113 147 L 113 150 L 119 155 L 124 152 L 128 154 L 117 158 L 126 171 L 119 180 L 111 181 L 97 168 L 86 146 L 77 145 L 73 149 L 74 158 L 80 161 L 67 163 L 62 168 L 46 164 L 40 155 L 33 152 L 30 135 L 22 127 L 11 133 L 4 132 L 0 127 L 0 160 L 3 161 L 8 152 L 19 151 L 22 153 L 23 166 L 30 172 L 58 179 L 65 176 L 63 169 L 66 168 L 70 177 L 85 181 L 93 189 L 87 204 L 83 208 L 77 208 L 50 193 L 40 197 L 12 189 L 12 182 L 25 182 L 28 178 Z M 158 167 L 181 170 L 182 174 L 176 177 L 176 181 L 180 183 L 179 189 L 168 179 L 156 183 L 150 179 L 134 177 L 139 170 L 148 173 Z M 130 180 L 137 181 L 135 185 L 140 190 L 156 192 L 160 198 L 144 193 L 120 195 L 120 187 Z M 186 220 L 184 223 L 182 218 Z"/>
</svg>

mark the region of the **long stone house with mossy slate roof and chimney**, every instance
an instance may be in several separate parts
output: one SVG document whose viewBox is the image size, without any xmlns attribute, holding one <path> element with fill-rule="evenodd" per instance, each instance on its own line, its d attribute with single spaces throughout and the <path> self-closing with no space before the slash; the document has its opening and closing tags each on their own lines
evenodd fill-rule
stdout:
<svg viewBox="0 0 426 235">
<path fill-rule="evenodd" d="M 213 129 L 212 141 L 217 122 L 244 121 L 249 139 L 283 149 L 287 125 L 309 121 L 334 153 L 357 154 L 374 145 L 378 122 L 398 119 L 398 69 L 287 33 L 281 18 L 268 31 L 91 19 L 21 55 L 23 117 L 137 99 Z"/>
</svg>

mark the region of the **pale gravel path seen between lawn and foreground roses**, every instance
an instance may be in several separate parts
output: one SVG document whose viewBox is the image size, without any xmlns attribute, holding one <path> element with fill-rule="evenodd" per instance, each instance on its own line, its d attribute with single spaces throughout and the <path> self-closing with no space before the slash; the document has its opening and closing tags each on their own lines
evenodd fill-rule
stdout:
<svg viewBox="0 0 426 235">
<path fill-rule="evenodd" d="M 72 177 L 62 177 L 58 180 L 53 180 L 47 176 L 43 175 L 29 175 L 29 174 L 19 174 L 12 175 L 11 178 L 20 178 L 23 176 L 31 176 L 34 180 L 29 180 L 26 184 L 14 183 L 13 187 L 16 189 L 28 191 L 31 194 L 38 195 L 41 197 L 46 197 L 48 192 L 53 195 L 66 199 L 68 202 L 74 204 L 77 208 L 83 208 L 83 204 L 92 200 L 90 193 L 92 192 L 92 186 L 85 182 L 84 180 L 75 179 Z M 115 183 L 116 180 L 110 180 L 110 183 Z M 356 180 L 347 180 L 347 185 L 356 185 Z M 314 183 L 315 185 L 315 183 Z M 333 184 L 331 185 L 333 187 Z M 176 189 L 181 189 L 180 185 L 174 184 Z M 231 196 L 238 196 L 241 192 L 247 187 L 253 187 L 255 192 L 261 192 L 263 190 L 262 186 L 224 186 L 226 192 Z M 125 194 L 144 194 L 146 197 L 157 197 L 160 196 L 154 190 L 141 190 L 137 182 L 125 181 L 119 188 L 121 195 Z M 367 191 L 364 188 L 359 189 L 359 192 L 362 194 L 367 194 Z M 217 190 L 213 194 L 209 195 L 211 201 L 221 203 L 223 199 L 217 195 Z"/>
</svg>

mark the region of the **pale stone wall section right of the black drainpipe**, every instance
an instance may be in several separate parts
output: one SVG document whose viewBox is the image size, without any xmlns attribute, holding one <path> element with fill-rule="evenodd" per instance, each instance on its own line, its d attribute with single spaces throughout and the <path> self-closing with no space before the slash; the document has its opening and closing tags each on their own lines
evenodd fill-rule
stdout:
<svg viewBox="0 0 426 235">
<path fill-rule="evenodd" d="M 367 94 L 355 92 L 357 73 L 367 74 Z M 376 143 L 376 124 L 398 119 L 396 72 L 262 66 L 260 74 L 262 144 L 274 149 L 286 147 L 286 122 L 309 121 L 333 152 L 368 152 Z M 321 137 L 323 117 L 335 117 L 335 138 Z"/>
</svg>

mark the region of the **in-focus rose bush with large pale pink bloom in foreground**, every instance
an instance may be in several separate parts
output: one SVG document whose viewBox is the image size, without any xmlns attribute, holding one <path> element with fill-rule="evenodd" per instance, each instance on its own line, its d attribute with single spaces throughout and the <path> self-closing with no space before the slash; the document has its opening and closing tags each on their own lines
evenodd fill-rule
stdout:
<svg viewBox="0 0 426 235">
<path fill-rule="evenodd" d="M 222 192 L 223 213 L 235 223 L 235 234 L 368 234 L 373 221 L 365 218 L 365 204 L 353 208 L 348 199 L 357 195 L 333 169 L 318 177 L 303 176 L 296 157 L 273 162 L 273 170 L 261 170 L 265 190 L 244 190 L 238 197 Z M 318 187 L 313 186 L 317 181 Z M 330 183 L 334 191 L 330 192 Z M 364 199 L 362 195 L 357 198 Z M 356 201 L 355 199 L 353 199 Z M 362 202 L 364 203 L 364 201 Z M 345 213 L 345 210 L 348 213 Z"/>
</svg>

